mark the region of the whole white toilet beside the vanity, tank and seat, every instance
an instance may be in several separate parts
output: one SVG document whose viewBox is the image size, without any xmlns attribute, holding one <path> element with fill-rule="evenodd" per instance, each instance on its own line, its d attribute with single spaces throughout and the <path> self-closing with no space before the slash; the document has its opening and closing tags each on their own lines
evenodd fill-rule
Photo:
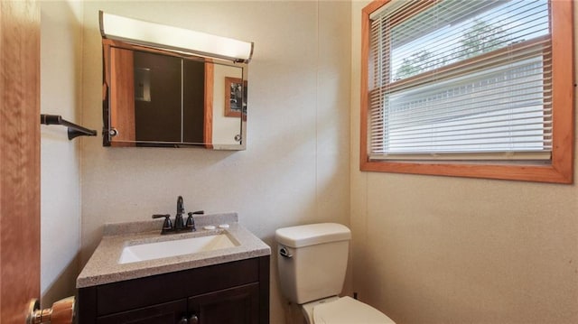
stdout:
<svg viewBox="0 0 578 324">
<path fill-rule="evenodd" d="M 275 231 L 281 291 L 301 305 L 308 324 L 395 324 L 386 314 L 350 297 L 343 288 L 351 232 L 335 223 Z"/>
</svg>

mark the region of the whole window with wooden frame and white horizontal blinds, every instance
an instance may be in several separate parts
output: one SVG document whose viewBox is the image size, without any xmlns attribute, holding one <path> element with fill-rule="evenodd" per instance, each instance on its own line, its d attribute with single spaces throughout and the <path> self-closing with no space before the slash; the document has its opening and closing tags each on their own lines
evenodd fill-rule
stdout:
<svg viewBox="0 0 578 324">
<path fill-rule="evenodd" d="M 572 183 L 572 5 L 366 6 L 361 170 Z"/>
</svg>

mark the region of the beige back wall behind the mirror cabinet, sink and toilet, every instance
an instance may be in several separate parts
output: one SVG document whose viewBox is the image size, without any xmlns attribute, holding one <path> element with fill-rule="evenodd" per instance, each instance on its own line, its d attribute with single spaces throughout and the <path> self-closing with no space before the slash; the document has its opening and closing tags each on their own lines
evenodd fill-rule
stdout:
<svg viewBox="0 0 578 324">
<path fill-rule="evenodd" d="M 237 211 L 274 246 L 275 228 L 349 222 L 350 3 L 84 3 L 83 123 L 102 127 L 98 10 L 255 42 L 247 151 L 105 148 L 83 141 L 82 264 L 105 222 L 187 210 Z M 284 301 L 272 256 L 272 323 Z"/>
</svg>

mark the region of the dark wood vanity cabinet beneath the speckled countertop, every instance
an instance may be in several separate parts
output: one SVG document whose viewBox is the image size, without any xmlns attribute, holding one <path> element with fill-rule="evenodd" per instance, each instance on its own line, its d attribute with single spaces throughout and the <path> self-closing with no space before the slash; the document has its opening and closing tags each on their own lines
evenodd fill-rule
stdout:
<svg viewBox="0 0 578 324">
<path fill-rule="evenodd" d="M 79 324 L 264 324 L 269 255 L 80 288 Z"/>
</svg>

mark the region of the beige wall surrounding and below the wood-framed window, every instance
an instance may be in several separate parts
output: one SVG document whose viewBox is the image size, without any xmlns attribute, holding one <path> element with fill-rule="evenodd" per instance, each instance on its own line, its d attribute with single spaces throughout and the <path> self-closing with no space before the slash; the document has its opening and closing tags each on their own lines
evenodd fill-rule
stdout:
<svg viewBox="0 0 578 324">
<path fill-rule="evenodd" d="M 359 298 L 397 323 L 578 322 L 575 185 L 359 171 L 367 3 L 353 3 L 351 28 L 350 225 Z"/>
</svg>

